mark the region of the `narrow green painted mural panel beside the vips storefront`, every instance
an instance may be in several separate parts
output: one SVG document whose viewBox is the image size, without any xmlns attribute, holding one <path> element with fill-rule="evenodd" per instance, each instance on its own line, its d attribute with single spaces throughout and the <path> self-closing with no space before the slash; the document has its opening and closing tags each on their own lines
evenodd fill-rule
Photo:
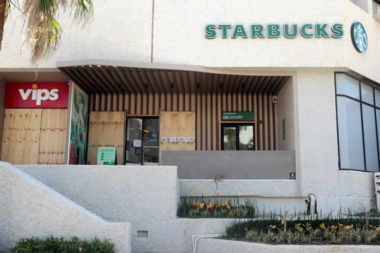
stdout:
<svg viewBox="0 0 380 253">
<path fill-rule="evenodd" d="M 87 101 L 87 94 L 75 86 L 71 110 L 69 164 L 87 163 Z"/>
</svg>

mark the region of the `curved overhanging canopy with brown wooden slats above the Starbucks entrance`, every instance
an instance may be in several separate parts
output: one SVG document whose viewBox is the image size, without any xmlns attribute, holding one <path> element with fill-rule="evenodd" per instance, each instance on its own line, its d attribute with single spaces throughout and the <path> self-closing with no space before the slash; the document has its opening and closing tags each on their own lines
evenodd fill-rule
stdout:
<svg viewBox="0 0 380 253">
<path fill-rule="evenodd" d="M 105 60 L 58 62 L 57 68 L 89 94 L 277 94 L 289 78 L 226 74 L 196 66 Z"/>
</svg>

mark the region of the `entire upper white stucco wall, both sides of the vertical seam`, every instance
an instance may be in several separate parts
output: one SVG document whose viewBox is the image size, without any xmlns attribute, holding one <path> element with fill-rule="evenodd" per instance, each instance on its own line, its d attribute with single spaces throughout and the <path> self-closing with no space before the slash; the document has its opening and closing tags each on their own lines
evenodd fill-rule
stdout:
<svg viewBox="0 0 380 253">
<path fill-rule="evenodd" d="M 244 8 L 242 8 L 244 6 Z M 376 68 L 368 68 L 380 57 L 380 22 L 349 0 L 211 0 L 181 1 L 141 0 L 112 5 L 94 3 L 93 21 L 81 30 L 66 14 L 59 21 L 64 33 L 54 57 L 39 64 L 39 70 L 55 68 L 57 61 L 113 59 L 221 68 L 300 68 L 347 67 L 364 76 L 380 80 Z M 115 13 L 120 15 L 114 15 Z M 170 14 L 170 15 L 168 15 Z M 368 37 L 366 53 L 359 54 L 350 36 L 351 24 L 361 21 Z M 152 23 L 153 21 L 153 23 Z M 205 38 L 207 24 L 304 24 L 342 23 L 344 36 L 334 38 Z M 17 11 L 5 23 L 2 68 L 32 68 L 29 52 L 19 31 L 23 18 Z M 119 24 L 118 26 L 110 24 Z M 75 47 L 73 47 L 75 43 Z M 362 64 L 366 62 L 367 64 Z"/>
</svg>

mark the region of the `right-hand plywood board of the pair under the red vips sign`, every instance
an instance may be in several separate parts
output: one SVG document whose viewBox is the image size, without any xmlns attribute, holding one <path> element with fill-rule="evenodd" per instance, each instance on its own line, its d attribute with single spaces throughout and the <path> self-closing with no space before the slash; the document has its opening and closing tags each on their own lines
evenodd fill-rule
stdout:
<svg viewBox="0 0 380 253">
<path fill-rule="evenodd" d="M 42 109 L 39 164 L 64 164 L 67 109 Z"/>
</svg>

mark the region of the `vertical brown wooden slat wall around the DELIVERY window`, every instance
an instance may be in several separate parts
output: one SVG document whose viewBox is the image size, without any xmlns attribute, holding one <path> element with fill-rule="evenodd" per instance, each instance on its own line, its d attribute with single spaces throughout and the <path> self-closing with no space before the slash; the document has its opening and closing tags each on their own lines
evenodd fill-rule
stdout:
<svg viewBox="0 0 380 253">
<path fill-rule="evenodd" d="M 96 104 L 92 108 L 103 110 L 100 105 L 105 103 L 104 99 L 105 96 L 94 96 Z M 120 96 L 120 100 L 118 104 L 125 105 L 128 114 L 158 114 L 160 110 L 195 111 L 196 150 L 219 150 L 218 122 L 222 111 L 253 111 L 258 123 L 258 150 L 277 150 L 277 105 L 271 103 L 271 94 L 225 94 L 221 91 L 217 94 L 125 94 Z M 111 109 L 117 110 L 115 107 Z"/>
</svg>

